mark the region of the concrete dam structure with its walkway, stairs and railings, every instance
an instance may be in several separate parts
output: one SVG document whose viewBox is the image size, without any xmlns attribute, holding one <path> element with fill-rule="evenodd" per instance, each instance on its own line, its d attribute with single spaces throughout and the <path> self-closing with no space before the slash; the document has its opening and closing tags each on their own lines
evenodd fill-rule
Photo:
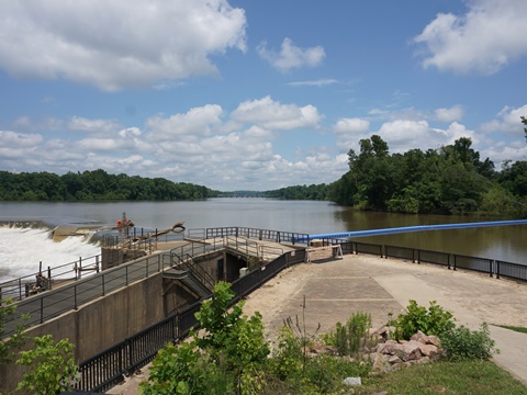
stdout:
<svg viewBox="0 0 527 395">
<path fill-rule="evenodd" d="M 194 229 L 184 239 L 149 245 L 153 250 L 138 258 L 123 248 L 112 252 L 114 248 L 106 246 L 99 262 L 105 262 L 105 270 L 24 295 L 18 301 L 18 313 L 31 315 L 25 323 L 32 325 L 30 336 L 53 334 L 57 339 L 70 339 L 81 365 L 79 388 L 101 391 L 147 363 L 166 341 L 184 337 L 195 324 L 193 314 L 199 302 L 210 296 L 214 282 L 233 283 L 239 300 L 283 268 L 304 262 L 313 242 L 330 249 L 338 244 L 344 253 L 403 259 L 417 256 L 421 261 L 448 269 L 527 280 L 522 264 L 446 252 L 415 253 L 408 248 L 321 236 L 240 227 Z M 108 263 L 109 257 L 116 263 Z M 12 327 L 21 323 L 8 324 Z M 109 356 L 120 362 L 109 362 Z M 108 368 L 104 374 L 93 373 L 92 366 L 98 363 Z M 15 383 L 16 374 L 0 373 Z"/>
</svg>

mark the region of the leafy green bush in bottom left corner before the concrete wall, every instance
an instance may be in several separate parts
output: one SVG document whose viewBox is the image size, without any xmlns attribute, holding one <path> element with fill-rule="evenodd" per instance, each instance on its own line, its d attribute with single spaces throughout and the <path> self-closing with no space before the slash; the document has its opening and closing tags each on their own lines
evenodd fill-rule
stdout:
<svg viewBox="0 0 527 395">
<path fill-rule="evenodd" d="M 51 335 L 33 339 L 34 349 L 21 351 L 16 363 L 30 366 L 16 391 L 27 390 L 36 395 L 52 395 L 72 390 L 78 366 L 74 360 L 75 346 L 68 339 L 58 342 Z"/>
</svg>

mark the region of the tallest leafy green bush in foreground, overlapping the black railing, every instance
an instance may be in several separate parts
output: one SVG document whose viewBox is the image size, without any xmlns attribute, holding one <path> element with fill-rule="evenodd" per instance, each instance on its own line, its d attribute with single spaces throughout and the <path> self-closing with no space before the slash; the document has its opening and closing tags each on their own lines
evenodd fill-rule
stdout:
<svg viewBox="0 0 527 395">
<path fill-rule="evenodd" d="M 231 285 L 220 282 L 212 300 L 195 314 L 202 336 L 178 347 L 167 345 L 153 362 L 143 394 L 228 394 L 237 388 L 257 393 L 258 369 L 266 364 L 269 345 L 264 338 L 261 315 L 243 314 L 244 303 L 229 309 Z"/>
</svg>

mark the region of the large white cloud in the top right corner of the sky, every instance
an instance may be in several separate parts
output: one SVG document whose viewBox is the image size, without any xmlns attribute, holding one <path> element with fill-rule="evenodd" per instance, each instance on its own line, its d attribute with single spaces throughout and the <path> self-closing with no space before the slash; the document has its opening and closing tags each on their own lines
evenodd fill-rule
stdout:
<svg viewBox="0 0 527 395">
<path fill-rule="evenodd" d="M 527 55 L 525 0 L 471 0 L 463 15 L 439 13 L 414 38 L 425 68 L 491 75 Z"/>
</svg>

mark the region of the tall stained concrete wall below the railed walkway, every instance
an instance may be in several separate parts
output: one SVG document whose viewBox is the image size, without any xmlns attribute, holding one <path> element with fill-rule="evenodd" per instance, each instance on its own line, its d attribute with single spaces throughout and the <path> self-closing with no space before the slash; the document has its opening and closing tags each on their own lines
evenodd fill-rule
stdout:
<svg viewBox="0 0 527 395">
<path fill-rule="evenodd" d="M 217 279 L 218 261 L 226 262 L 227 281 L 237 279 L 239 268 L 247 266 L 245 260 L 226 251 L 197 257 L 194 261 L 216 281 L 223 280 Z M 27 335 L 30 338 L 53 335 L 56 341 L 69 339 L 76 346 L 75 359 L 80 363 L 198 300 L 181 283 L 172 283 L 156 273 L 32 327 Z M 22 372 L 14 363 L 0 366 L 0 392 L 14 390 Z"/>
</svg>

